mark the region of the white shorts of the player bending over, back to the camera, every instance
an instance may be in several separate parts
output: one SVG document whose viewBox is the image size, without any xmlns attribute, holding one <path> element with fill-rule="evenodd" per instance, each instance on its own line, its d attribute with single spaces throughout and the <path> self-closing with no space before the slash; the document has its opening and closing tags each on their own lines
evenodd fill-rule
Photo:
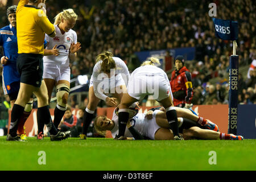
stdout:
<svg viewBox="0 0 256 182">
<path fill-rule="evenodd" d="M 156 101 L 162 101 L 172 95 L 170 82 L 159 75 L 138 77 L 132 74 L 127 84 L 127 93 L 137 100 L 153 96 Z"/>
</svg>

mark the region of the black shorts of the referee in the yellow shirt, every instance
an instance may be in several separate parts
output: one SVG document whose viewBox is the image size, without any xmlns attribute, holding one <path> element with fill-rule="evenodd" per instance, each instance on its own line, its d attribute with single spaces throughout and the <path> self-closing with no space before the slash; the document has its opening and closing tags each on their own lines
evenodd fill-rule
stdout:
<svg viewBox="0 0 256 182">
<path fill-rule="evenodd" d="M 33 53 L 19 53 L 17 70 L 20 82 L 40 87 L 43 80 L 43 55 Z"/>
</svg>

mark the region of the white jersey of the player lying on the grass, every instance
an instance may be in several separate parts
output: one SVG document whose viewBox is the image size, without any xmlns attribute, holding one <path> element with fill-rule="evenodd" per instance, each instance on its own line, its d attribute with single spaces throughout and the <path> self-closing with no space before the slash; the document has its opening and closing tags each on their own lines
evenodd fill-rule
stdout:
<svg viewBox="0 0 256 182">
<path fill-rule="evenodd" d="M 135 117 L 130 119 L 131 126 L 133 126 L 140 134 L 146 135 L 145 133 L 145 126 L 146 122 L 144 121 L 145 119 L 145 114 L 143 113 L 138 113 L 135 115 Z M 113 112 L 113 117 L 112 120 L 115 123 L 115 126 L 111 130 L 112 137 L 115 138 L 115 135 L 118 135 L 118 116 L 115 114 L 115 111 Z M 130 133 L 129 129 L 125 129 L 125 136 L 124 137 L 133 137 L 133 135 Z"/>
</svg>

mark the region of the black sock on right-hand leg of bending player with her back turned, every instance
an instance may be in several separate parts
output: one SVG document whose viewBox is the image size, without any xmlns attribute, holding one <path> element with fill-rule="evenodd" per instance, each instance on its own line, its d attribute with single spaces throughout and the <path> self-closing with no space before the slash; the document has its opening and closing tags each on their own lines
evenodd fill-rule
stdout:
<svg viewBox="0 0 256 182">
<path fill-rule="evenodd" d="M 174 133 L 174 137 L 179 136 L 179 127 L 177 123 L 177 113 L 176 113 L 175 107 L 168 107 L 166 109 L 166 117 L 167 117 L 169 126 L 172 132 Z"/>
</svg>

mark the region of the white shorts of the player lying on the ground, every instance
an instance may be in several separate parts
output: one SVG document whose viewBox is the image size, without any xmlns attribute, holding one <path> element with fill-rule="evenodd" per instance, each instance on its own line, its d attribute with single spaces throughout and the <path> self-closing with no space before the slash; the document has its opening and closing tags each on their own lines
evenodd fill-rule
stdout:
<svg viewBox="0 0 256 182">
<path fill-rule="evenodd" d="M 158 124 L 156 123 L 156 114 L 159 112 L 160 110 L 155 110 L 153 113 L 152 119 L 147 119 L 147 118 L 144 119 L 145 126 L 144 126 L 143 135 L 145 135 L 146 137 L 152 140 L 155 139 L 156 131 L 160 129 L 160 126 L 158 126 Z"/>
</svg>

